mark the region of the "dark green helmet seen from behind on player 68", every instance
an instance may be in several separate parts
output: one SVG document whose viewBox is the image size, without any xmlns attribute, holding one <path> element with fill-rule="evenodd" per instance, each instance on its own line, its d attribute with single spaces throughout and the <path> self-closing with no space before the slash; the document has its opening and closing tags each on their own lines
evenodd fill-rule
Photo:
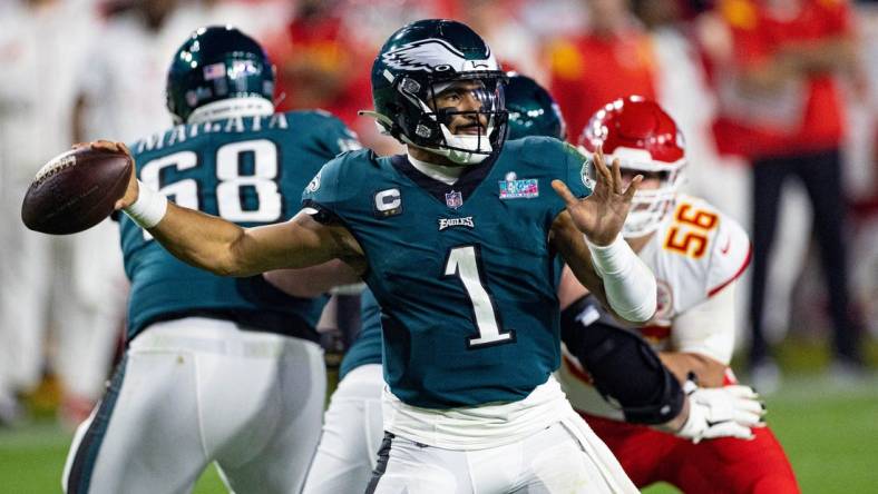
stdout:
<svg viewBox="0 0 878 494">
<path fill-rule="evenodd" d="M 274 68 L 253 38 L 231 26 L 193 32 L 167 73 L 167 108 L 177 124 L 274 111 Z"/>
</svg>

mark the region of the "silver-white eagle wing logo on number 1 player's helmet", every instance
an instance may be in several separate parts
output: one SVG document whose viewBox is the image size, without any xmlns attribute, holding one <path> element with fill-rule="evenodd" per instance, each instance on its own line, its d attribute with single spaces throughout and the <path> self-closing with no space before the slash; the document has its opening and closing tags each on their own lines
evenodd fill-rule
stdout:
<svg viewBox="0 0 878 494">
<path fill-rule="evenodd" d="M 397 70 L 426 70 L 428 72 L 497 70 L 497 60 L 490 49 L 484 60 L 468 60 L 462 52 L 438 38 L 406 43 L 381 56 L 383 62 Z"/>
</svg>

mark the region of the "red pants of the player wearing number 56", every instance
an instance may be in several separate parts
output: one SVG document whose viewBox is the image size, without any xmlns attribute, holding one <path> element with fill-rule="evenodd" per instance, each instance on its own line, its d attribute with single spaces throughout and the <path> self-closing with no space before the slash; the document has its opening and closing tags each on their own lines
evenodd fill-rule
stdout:
<svg viewBox="0 0 878 494">
<path fill-rule="evenodd" d="M 790 462 L 768 427 L 752 441 L 699 444 L 636 424 L 582 414 L 637 487 L 667 482 L 692 493 L 798 493 Z"/>
</svg>

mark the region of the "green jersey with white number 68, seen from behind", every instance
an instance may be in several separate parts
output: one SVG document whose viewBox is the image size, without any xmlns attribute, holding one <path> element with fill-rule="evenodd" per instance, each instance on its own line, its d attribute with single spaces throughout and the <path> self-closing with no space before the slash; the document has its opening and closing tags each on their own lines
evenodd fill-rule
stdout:
<svg viewBox="0 0 878 494">
<path fill-rule="evenodd" d="M 178 126 L 130 146 L 138 178 L 181 206 L 251 227 L 283 221 L 328 160 L 355 136 L 322 111 L 238 117 Z M 236 320 L 314 339 L 323 297 L 290 297 L 262 276 L 226 278 L 168 254 L 128 217 L 120 218 L 131 283 L 128 339 L 150 323 L 186 316 Z"/>
</svg>

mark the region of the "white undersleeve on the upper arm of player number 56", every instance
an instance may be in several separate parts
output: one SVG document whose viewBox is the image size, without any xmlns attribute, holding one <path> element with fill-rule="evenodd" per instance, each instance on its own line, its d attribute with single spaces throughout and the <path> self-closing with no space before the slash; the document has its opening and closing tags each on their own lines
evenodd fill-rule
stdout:
<svg viewBox="0 0 878 494">
<path fill-rule="evenodd" d="M 729 365 L 734 349 L 734 289 L 731 281 L 712 297 L 674 318 L 671 346 Z"/>
</svg>

